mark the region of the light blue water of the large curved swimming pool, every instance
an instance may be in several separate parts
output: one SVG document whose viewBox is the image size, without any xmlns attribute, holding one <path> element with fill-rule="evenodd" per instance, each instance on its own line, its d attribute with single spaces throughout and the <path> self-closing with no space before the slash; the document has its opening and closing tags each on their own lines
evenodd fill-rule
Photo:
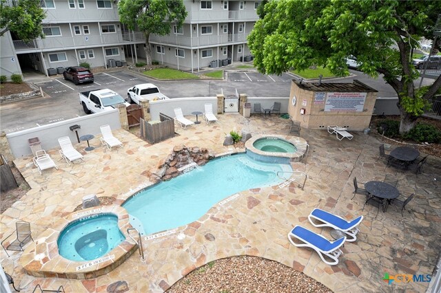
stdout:
<svg viewBox="0 0 441 293">
<path fill-rule="evenodd" d="M 149 235 L 196 221 L 239 191 L 280 184 L 278 171 L 292 169 L 289 164 L 257 162 L 246 154 L 231 155 L 147 188 L 123 207 L 130 214 L 130 224 Z"/>
</svg>

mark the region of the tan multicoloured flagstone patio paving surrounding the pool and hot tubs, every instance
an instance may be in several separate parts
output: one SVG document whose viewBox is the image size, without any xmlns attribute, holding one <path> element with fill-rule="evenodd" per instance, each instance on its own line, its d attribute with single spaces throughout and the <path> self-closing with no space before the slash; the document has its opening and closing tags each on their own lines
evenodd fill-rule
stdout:
<svg viewBox="0 0 441 293">
<path fill-rule="evenodd" d="M 81 151 L 85 162 L 71 164 L 61 160 L 58 150 L 48 153 L 59 170 L 50 169 L 40 175 L 32 158 L 14 161 L 31 190 L 8 208 L 0 217 L 1 239 L 14 230 L 17 219 L 30 221 L 32 237 L 52 227 L 81 204 L 91 193 L 114 197 L 122 204 L 133 191 L 152 184 L 150 172 L 156 170 L 176 145 L 205 147 L 213 153 L 231 151 L 223 146 L 225 133 L 236 129 L 257 134 L 288 133 L 289 120 L 277 116 L 219 115 L 219 123 L 198 124 L 178 129 L 175 138 L 148 144 L 122 129 L 114 135 L 123 148 L 106 151 L 99 139 L 90 141 L 94 151 Z M 253 188 L 226 204 L 216 204 L 191 224 L 176 228 L 164 237 L 144 241 L 145 261 L 135 252 L 122 265 L 96 279 L 73 280 L 37 278 L 25 274 L 19 257 L 23 252 L 2 250 L 1 265 L 14 278 L 21 292 L 32 292 L 35 285 L 66 292 L 107 292 L 107 287 L 121 285 L 130 292 L 163 292 L 182 276 L 205 263 L 234 255 L 265 257 L 289 265 L 320 281 L 334 292 L 424 292 L 429 283 L 382 281 L 385 272 L 395 274 L 432 274 L 441 251 L 441 160 L 429 156 L 422 174 L 402 172 L 378 160 L 381 142 L 375 135 L 354 133 L 353 140 L 336 140 L 327 131 L 302 129 L 301 137 L 310 145 L 306 164 L 293 163 L 307 173 L 304 190 L 296 184 Z M 76 145 L 82 149 L 85 144 Z M 359 182 L 383 180 L 392 174 L 398 177 L 398 189 L 404 196 L 416 193 L 404 217 L 390 206 L 386 213 L 366 206 L 364 198 L 353 199 L 353 177 Z M 300 224 L 321 233 L 328 239 L 329 228 L 315 228 L 307 220 L 314 208 L 329 210 L 346 219 L 365 216 L 360 224 L 358 240 L 345 243 L 338 265 L 323 263 L 309 248 L 292 246 L 287 233 Z M 32 249 L 34 243 L 26 249 Z M 119 283 L 116 283 L 119 282 Z M 116 283 L 116 284 L 115 284 Z M 110 290 L 110 289 L 109 289 Z"/>
</svg>

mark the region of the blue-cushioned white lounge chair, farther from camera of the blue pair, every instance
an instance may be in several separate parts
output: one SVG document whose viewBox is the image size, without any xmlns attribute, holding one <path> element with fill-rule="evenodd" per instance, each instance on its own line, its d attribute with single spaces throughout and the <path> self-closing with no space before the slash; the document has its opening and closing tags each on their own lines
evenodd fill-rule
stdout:
<svg viewBox="0 0 441 293">
<path fill-rule="evenodd" d="M 358 225 L 360 225 L 363 216 L 360 216 L 352 221 L 346 221 L 342 217 L 328 213 L 320 208 L 314 210 L 308 216 L 309 221 L 316 227 L 331 227 L 335 230 L 340 230 L 348 235 L 346 241 L 353 242 L 357 240 Z"/>
</svg>

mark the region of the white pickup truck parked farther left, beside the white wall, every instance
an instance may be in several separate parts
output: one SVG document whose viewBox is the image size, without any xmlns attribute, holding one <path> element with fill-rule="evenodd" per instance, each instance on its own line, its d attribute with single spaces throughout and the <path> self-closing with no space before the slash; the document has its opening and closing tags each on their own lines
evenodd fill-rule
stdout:
<svg viewBox="0 0 441 293">
<path fill-rule="evenodd" d="M 93 91 L 83 91 L 79 93 L 80 104 L 83 105 L 84 112 L 100 113 L 118 107 L 123 104 L 130 106 L 122 96 L 116 94 L 112 89 L 95 89 Z"/>
</svg>

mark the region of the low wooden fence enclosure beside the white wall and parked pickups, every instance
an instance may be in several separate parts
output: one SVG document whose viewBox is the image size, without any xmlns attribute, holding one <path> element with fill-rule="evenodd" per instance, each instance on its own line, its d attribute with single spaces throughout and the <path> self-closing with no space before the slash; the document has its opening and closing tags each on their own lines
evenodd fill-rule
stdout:
<svg viewBox="0 0 441 293">
<path fill-rule="evenodd" d="M 154 144 L 174 137 L 174 119 L 159 113 L 160 121 L 145 121 L 141 118 L 141 137 Z"/>
</svg>

